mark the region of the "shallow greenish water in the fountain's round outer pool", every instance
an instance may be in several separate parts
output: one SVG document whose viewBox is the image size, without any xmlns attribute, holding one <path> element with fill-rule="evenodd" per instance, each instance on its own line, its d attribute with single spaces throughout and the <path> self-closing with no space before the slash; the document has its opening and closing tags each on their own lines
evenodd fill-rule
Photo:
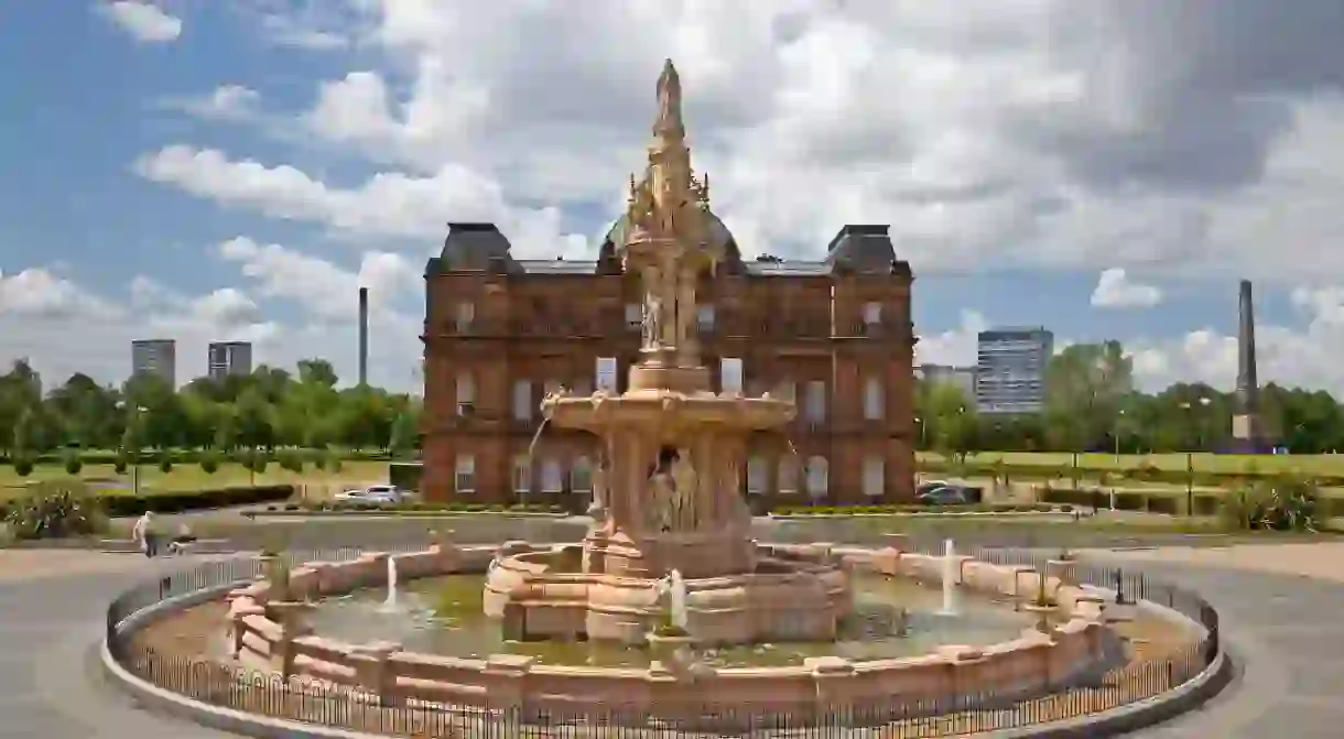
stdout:
<svg viewBox="0 0 1344 739">
<path fill-rule="evenodd" d="M 395 614 L 387 611 L 379 589 L 356 591 L 320 601 L 309 622 L 316 633 L 333 640 L 395 641 L 407 650 L 441 656 L 512 653 L 536 657 L 543 664 L 609 668 L 644 668 L 657 658 L 645 648 L 609 641 L 507 641 L 499 622 L 481 610 L 482 580 L 482 575 L 411 580 L 401 590 Z M 852 586 L 855 610 L 836 641 L 745 644 L 704 650 L 700 656 L 716 666 L 800 665 L 808 657 L 824 656 L 911 657 L 945 644 L 1012 640 L 1034 623 L 1030 614 L 1015 613 L 1008 603 L 977 594 L 962 598 L 958 615 L 946 615 L 939 590 L 909 578 L 856 572 Z"/>
</svg>

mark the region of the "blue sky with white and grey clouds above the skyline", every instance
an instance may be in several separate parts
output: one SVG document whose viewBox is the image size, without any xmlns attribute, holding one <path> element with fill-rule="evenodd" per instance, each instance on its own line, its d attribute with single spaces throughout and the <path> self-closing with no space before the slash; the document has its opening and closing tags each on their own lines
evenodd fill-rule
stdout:
<svg viewBox="0 0 1344 739">
<path fill-rule="evenodd" d="M 145 336 L 179 339 L 183 378 L 204 341 L 237 337 L 262 361 L 323 355 L 348 375 L 345 296 L 364 282 L 374 379 L 414 384 L 417 275 L 442 223 L 496 220 L 524 257 L 590 254 L 675 56 L 695 156 L 745 251 L 820 258 L 847 222 L 891 223 L 926 360 L 968 361 L 985 325 L 1040 324 L 1125 341 L 1149 384 L 1227 384 L 1250 277 L 1262 376 L 1344 387 L 1322 348 L 1344 324 L 1344 262 L 1317 246 L 1341 226 L 1325 207 L 1344 183 L 1339 81 L 1310 67 L 1309 30 L 1282 30 L 1302 59 L 1245 48 L 1239 0 L 1070 40 L 1141 58 L 1106 74 L 1019 32 L 1077 12 L 1044 0 L 12 5 L 0 360 L 51 376 L 117 382 Z M 1153 23 L 1207 48 L 1134 48 Z M 582 50 L 555 40 L 579 32 Z M 1279 67 L 1236 69 L 1224 42 Z M 1273 107 L 1246 107 L 1266 93 Z M 1196 98 L 1208 110 L 1169 102 Z M 1191 136 L 1188 117 L 1228 105 L 1250 122 Z M 1121 271 L 1098 290 L 1106 270 Z"/>
</svg>

